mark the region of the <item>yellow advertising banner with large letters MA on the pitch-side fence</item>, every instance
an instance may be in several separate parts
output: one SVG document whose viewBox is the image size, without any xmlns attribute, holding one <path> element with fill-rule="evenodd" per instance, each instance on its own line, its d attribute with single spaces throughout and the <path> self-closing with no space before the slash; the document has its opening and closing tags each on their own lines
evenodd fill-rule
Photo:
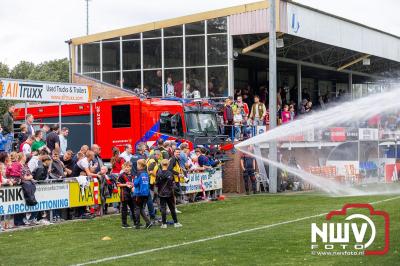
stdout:
<svg viewBox="0 0 400 266">
<path fill-rule="evenodd" d="M 69 204 L 70 207 L 82 207 L 94 205 L 94 191 L 93 182 L 90 182 L 90 186 L 85 189 L 85 193 L 82 195 L 81 189 L 78 183 L 69 183 Z M 99 204 L 101 203 L 100 191 L 99 191 Z M 111 198 L 106 200 L 106 203 L 114 203 L 120 201 L 120 190 L 118 194 L 113 193 Z"/>
</svg>

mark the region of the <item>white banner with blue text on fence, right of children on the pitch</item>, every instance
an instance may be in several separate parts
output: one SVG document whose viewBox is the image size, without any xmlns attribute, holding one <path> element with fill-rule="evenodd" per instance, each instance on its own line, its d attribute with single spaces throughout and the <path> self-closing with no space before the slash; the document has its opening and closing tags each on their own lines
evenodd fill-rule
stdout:
<svg viewBox="0 0 400 266">
<path fill-rule="evenodd" d="M 214 173 L 193 173 L 188 175 L 189 182 L 181 183 L 185 194 L 197 193 L 222 188 L 222 171 L 217 170 Z"/>
</svg>

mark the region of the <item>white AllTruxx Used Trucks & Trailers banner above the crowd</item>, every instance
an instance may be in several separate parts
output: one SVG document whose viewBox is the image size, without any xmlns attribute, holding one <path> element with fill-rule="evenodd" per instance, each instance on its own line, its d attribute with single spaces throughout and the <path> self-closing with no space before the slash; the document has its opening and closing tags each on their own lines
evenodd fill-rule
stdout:
<svg viewBox="0 0 400 266">
<path fill-rule="evenodd" d="M 87 103 L 92 101 L 92 92 L 90 86 L 1 79 L 0 98 L 30 102 Z"/>
</svg>

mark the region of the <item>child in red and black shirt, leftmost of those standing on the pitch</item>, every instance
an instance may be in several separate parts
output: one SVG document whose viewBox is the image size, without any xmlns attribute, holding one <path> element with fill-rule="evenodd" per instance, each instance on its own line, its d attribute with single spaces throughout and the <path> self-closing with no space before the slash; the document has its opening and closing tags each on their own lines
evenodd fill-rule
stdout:
<svg viewBox="0 0 400 266">
<path fill-rule="evenodd" d="M 131 175 L 132 164 L 131 162 L 125 162 L 122 165 L 122 173 L 118 178 L 118 186 L 121 187 L 121 220 L 122 228 L 131 228 L 127 223 L 128 218 L 128 206 L 131 213 L 135 212 L 135 203 L 132 197 L 133 191 L 133 176 Z M 136 220 L 134 217 L 134 223 Z"/>
</svg>

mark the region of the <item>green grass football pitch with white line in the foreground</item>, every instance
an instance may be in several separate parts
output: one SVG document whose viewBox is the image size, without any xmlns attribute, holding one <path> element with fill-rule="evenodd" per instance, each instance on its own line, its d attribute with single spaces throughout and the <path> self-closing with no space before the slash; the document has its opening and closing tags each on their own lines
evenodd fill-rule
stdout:
<svg viewBox="0 0 400 266">
<path fill-rule="evenodd" d="M 71 265 L 166 247 L 309 217 L 339 209 L 345 203 L 368 203 L 395 196 L 330 198 L 323 195 L 281 194 L 227 198 L 225 201 L 182 206 L 182 228 L 122 229 L 119 216 L 75 221 L 0 234 L 1 265 Z M 375 209 L 391 218 L 390 251 L 384 256 L 316 256 L 310 254 L 307 218 L 260 230 L 170 247 L 109 260 L 104 265 L 399 265 L 400 197 Z M 104 236 L 110 241 L 102 241 Z"/>
</svg>

